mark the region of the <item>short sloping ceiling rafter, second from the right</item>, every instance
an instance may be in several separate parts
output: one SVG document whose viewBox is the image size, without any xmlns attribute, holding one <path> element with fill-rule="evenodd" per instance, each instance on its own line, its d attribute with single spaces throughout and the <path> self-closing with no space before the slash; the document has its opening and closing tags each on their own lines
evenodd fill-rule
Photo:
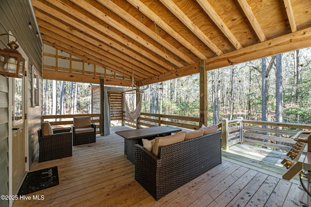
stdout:
<svg viewBox="0 0 311 207">
<path fill-rule="evenodd" d="M 261 30 L 261 27 L 252 11 L 252 8 L 248 5 L 246 0 L 238 0 L 244 14 L 246 15 L 248 21 L 251 23 L 254 31 L 256 32 L 260 42 L 264 42 L 266 41 L 266 37 L 264 35 L 264 33 Z"/>
</svg>

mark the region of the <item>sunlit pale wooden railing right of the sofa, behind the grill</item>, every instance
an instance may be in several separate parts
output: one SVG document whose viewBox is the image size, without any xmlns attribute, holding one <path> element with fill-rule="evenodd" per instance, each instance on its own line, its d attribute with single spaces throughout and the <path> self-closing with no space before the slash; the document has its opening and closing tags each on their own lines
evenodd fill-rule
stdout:
<svg viewBox="0 0 311 207">
<path fill-rule="evenodd" d="M 294 135 L 299 131 L 310 131 L 311 125 L 243 120 L 222 120 L 223 150 L 236 143 L 249 143 L 259 147 L 289 151 Z M 302 134 L 306 137 L 309 134 Z"/>
</svg>

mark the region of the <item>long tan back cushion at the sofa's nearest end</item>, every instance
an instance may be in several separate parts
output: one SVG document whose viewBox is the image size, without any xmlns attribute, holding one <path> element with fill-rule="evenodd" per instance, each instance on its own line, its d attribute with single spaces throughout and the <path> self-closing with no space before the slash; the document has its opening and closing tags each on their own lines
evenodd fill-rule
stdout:
<svg viewBox="0 0 311 207">
<path fill-rule="evenodd" d="M 152 153 L 157 157 L 159 154 L 159 148 L 167 146 L 173 143 L 179 143 L 185 140 L 186 132 L 180 131 L 177 134 L 173 134 L 166 137 L 156 137 Z"/>
</svg>

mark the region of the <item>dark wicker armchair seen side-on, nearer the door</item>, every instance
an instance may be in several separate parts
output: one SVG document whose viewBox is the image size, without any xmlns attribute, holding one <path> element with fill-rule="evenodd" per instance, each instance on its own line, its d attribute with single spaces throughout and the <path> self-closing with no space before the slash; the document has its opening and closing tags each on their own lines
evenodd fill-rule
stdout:
<svg viewBox="0 0 311 207">
<path fill-rule="evenodd" d="M 72 156 L 70 128 L 54 129 L 51 133 L 53 134 L 44 136 L 43 129 L 40 127 L 38 130 L 39 162 Z"/>
</svg>

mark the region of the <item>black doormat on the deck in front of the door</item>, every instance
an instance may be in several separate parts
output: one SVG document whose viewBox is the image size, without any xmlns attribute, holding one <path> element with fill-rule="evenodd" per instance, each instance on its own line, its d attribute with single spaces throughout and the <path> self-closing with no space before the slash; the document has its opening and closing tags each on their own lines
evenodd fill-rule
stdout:
<svg viewBox="0 0 311 207">
<path fill-rule="evenodd" d="M 18 195 L 26 195 L 35 191 L 58 185 L 57 166 L 27 173 Z"/>
</svg>

